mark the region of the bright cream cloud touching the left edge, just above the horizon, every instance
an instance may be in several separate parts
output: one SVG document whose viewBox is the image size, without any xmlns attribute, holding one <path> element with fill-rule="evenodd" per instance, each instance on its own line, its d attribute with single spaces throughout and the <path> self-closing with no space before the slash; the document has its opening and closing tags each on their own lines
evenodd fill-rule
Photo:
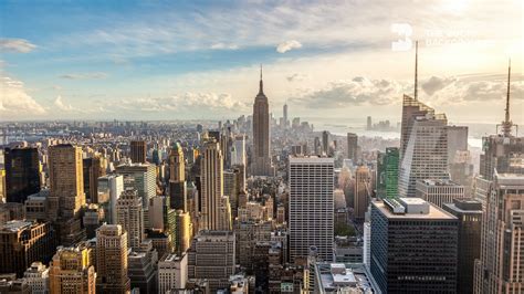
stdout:
<svg viewBox="0 0 524 294">
<path fill-rule="evenodd" d="M 0 76 L 0 117 L 21 118 L 20 114 L 24 116 L 45 114 L 44 107 L 27 93 L 22 82 Z"/>
</svg>

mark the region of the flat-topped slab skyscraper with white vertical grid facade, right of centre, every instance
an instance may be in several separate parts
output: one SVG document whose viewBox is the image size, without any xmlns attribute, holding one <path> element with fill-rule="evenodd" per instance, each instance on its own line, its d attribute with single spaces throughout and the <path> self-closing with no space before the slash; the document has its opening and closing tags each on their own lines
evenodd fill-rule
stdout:
<svg viewBox="0 0 524 294">
<path fill-rule="evenodd" d="M 334 159 L 290 157 L 290 254 L 306 258 L 316 248 L 324 261 L 333 260 Z"/>
</svg>

